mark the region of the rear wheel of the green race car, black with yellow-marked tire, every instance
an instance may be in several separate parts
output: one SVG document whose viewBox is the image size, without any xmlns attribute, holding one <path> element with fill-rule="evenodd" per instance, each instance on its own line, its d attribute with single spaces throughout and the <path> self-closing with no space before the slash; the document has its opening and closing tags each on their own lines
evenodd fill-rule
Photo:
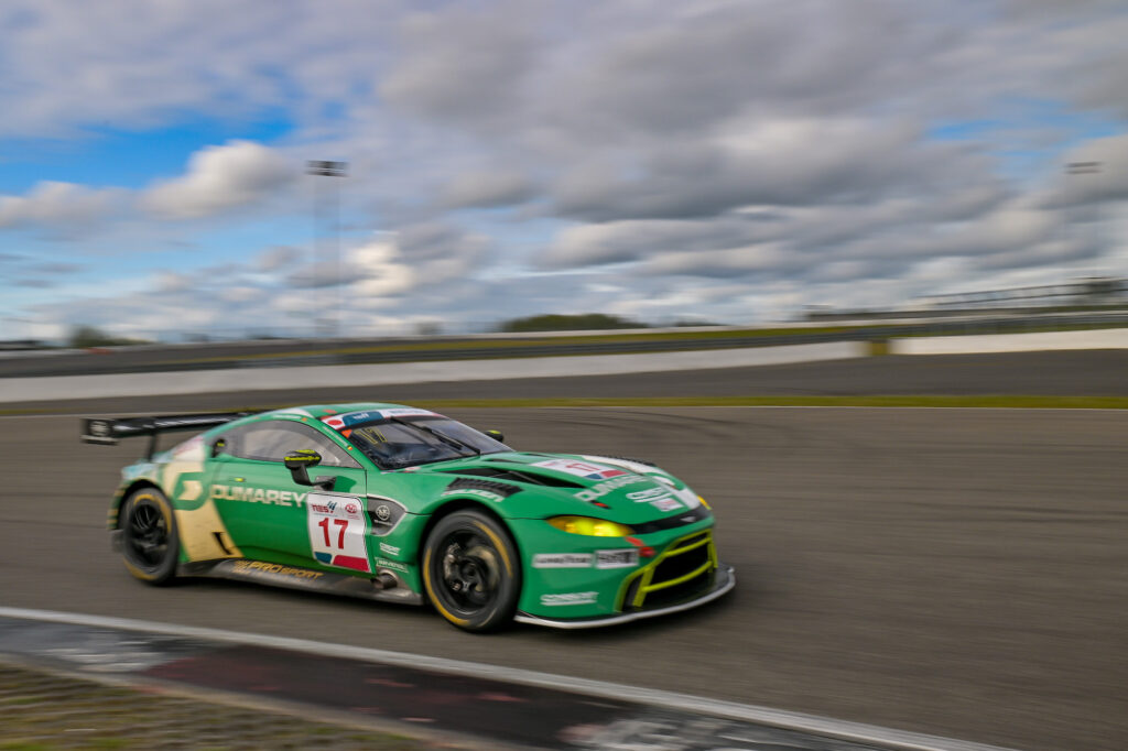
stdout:
<svg viewBox="0 0 1128 751">
<path fill-rule="evenodd" d="M 176 514 L 165 494 L 143 487 L 122 504 L 122 558 L 131 574 L 160 586 L 176 576 L 180 538 Z"/>
</svg>

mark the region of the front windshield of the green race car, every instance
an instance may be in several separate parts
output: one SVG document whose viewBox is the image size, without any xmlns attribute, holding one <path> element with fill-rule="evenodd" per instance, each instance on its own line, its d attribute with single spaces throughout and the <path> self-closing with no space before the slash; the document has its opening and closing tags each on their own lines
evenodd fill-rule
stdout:
<svg viewBox="0 0 1128 751">
<path fill-rule="evenodd" d="M 341 434 L 384 469 L 510 450 L 448 417 L 386 417 L 352 425 Z"/>
</svg>

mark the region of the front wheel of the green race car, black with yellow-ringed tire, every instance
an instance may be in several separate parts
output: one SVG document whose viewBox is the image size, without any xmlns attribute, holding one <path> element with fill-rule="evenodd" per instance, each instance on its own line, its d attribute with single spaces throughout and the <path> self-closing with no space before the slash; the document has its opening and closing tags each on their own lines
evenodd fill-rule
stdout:
<svg viewBox="0 0 1128 751">
<path fill-rule="evenodd" d="M 467 631 L 513 620 L 521 562 L 509 531 L 481 511 L 443 516 L 423 546 L 423 586 L 434 609 Z"/>
</svg>

